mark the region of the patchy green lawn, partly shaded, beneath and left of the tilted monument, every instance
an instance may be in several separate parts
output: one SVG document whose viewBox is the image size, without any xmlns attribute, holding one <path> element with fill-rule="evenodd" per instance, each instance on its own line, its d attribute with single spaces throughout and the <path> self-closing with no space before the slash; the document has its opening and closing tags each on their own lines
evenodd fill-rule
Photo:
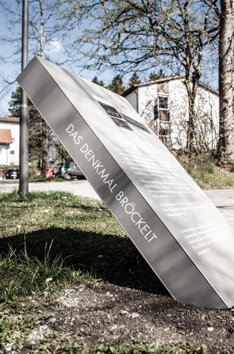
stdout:
<svg viewBox="0 0 234 354">
<path fill-rule="evenodd" d="M 177 340 L 162 346 L 156 335 L 90 348 L 79 334 L 47 333 L 55 307 L 63 322 L 58 299 L 68 292 L 108 283 L 129 291 L 139 278 L 140 289 L 151 291 L 155 276 L 141 276 L 148 266 L 103 204 L 65 192 L 32 192 L 25 200 L 17 192 L 0 194 L 0 204 L 0 353 L 206 352 Z"/>
</svg>

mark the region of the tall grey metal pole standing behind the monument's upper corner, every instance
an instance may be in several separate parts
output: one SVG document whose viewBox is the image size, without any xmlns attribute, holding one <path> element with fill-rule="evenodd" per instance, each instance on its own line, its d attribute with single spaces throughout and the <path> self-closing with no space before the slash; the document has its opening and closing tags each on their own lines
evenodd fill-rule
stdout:
<svg viewBox="0 0 234 354">
<path fill-rule="evenodd" d="M 22 11 L 22 71 L 28 64 L 28 0 L 23 0 Z M 20 105 L 20 193 L 28 195 L 28 104 L 21 90 Z"/>
</svg>

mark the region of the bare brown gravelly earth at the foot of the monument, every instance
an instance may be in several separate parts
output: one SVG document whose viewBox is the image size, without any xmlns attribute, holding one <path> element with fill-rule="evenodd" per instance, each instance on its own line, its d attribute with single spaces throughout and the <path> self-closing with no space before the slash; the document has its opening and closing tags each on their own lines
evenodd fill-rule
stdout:
<svg viewBox="0 0 234 354">
<path fill-rule="evenodd" d="M 64 289 L 46 307 L 46 293 L 37 301 L 32 311 L 33 317 L 38 316 L 37 325 L 28 334 L 32 348 L 43 342 L 52 346 L 51 334 L 56 332 L 60 338 L 86 343 L 90 349 L 100 343 L 145 338 L 164 347 L 182 341 L 205 344 L 208 352 L 234 350 L 234 312 L 230 308 L 197 308 L 167 295 L 109 283 Z"/>
</svg>

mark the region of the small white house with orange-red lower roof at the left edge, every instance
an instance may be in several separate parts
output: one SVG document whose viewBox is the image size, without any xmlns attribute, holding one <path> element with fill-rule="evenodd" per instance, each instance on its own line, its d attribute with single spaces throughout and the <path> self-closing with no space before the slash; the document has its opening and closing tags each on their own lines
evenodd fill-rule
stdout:
<svg viewBox="0 0 234 354">
<path fill-rule="evenodd" d="M 0 117 L 0 164 L 19 165 L 20 119 Z"/>
</svg>

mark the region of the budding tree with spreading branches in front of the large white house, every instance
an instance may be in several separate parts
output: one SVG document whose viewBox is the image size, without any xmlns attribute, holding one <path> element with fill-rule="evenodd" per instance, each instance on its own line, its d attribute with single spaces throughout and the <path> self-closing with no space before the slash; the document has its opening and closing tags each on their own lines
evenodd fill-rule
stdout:
<svg viewBox="0 0 234 354">
<path fill-rule="evenodd" d="M 187 150 L 194 147 L 195 99 L 204 58 L 219 35 L 217 0 L 63 0 L 65 22 L 83 28 L 74 45 L 85 67 L 120 73 L 158 64 L 185 73 L 189 100 Z M 83 26 L 83 27 L 82 27 Z M 87 45 L 90 46 L 87 56 Z M 203 56 L 206 51 L 206 57 Z M 82 60 L 81 60 L 82 62 Z"/>
</svg>

